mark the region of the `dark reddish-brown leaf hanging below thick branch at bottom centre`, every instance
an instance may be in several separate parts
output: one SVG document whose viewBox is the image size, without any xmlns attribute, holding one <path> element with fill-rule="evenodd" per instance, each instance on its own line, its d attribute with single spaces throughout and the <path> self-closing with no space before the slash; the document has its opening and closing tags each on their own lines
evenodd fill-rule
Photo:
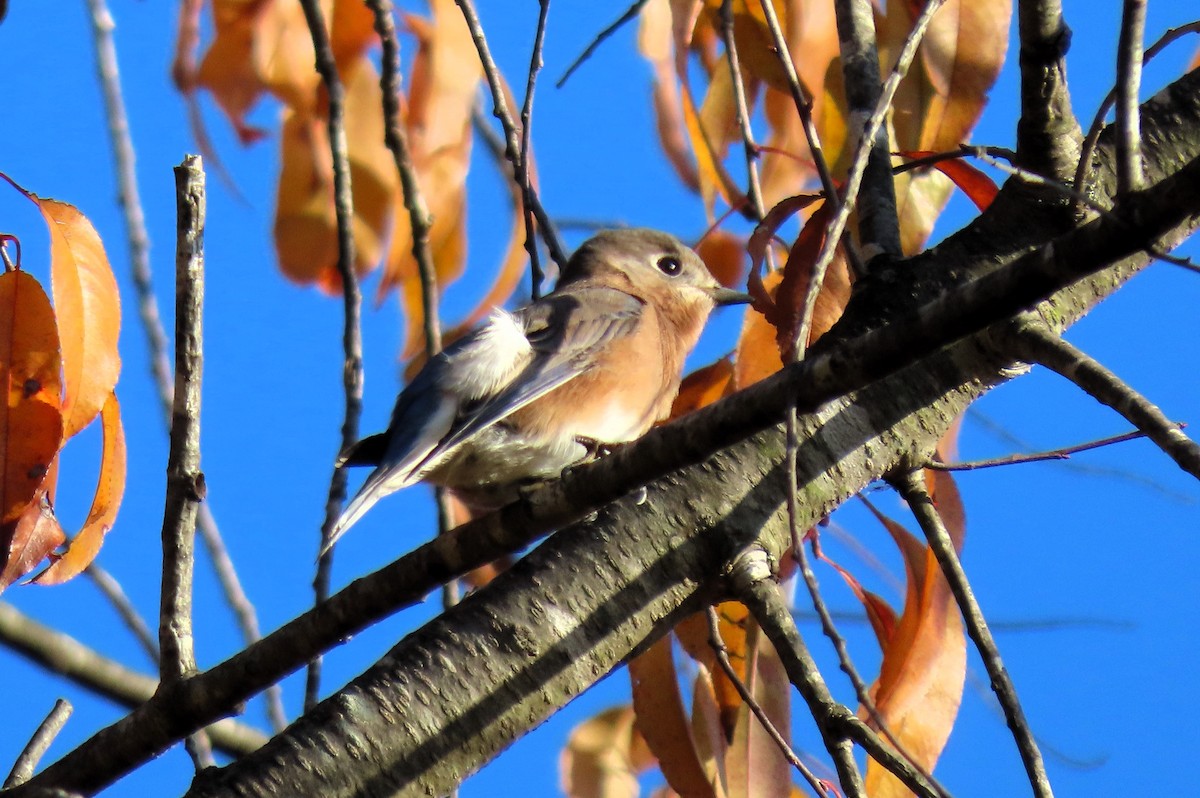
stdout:
<svg viewBox="0 0 1200 798">
<path fill-rule="evenodd" d="M 679 694 L 671 638 L 664 637 L 630 660 L 629 678 L 634 686 L 636 728 L 658 757 L 667 784 L 683 796 L 715 796 Z"/>
</svg>

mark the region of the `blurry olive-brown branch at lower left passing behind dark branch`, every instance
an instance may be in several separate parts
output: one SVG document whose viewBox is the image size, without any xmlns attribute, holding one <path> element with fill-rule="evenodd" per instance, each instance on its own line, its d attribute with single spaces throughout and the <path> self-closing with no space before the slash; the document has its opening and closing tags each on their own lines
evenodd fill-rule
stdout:
<svg viewBox="0 0 1200 798">
<path fill-rule="evenodd" d="M 158 686 L 154 677 L 131 671 L 2 601 L 0 642 L 47 671 L 128 709 L 149 701 Z M 218 750 L 230 756 L 250 754 L 266 742 L 265 734 L 235 720 L 216 721 L 205 728 L 205 733 Z"/>
</svg>

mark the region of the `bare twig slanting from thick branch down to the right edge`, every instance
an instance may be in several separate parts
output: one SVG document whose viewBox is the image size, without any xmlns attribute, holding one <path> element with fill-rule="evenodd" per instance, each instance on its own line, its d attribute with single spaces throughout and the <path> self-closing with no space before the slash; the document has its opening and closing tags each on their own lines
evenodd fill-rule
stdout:
<svg viewBox="0 0 1200 798">
<path fill-rule="evenodd" d="M 1062 374 L 1146 433 L 1175 463 L 1200 479 L 1200 446 L 1183 434 L 1150 400 L 1127 385 L 1094 358 L 1026 319 L 1012 334 L 1016 356 Z"/>
</svg>

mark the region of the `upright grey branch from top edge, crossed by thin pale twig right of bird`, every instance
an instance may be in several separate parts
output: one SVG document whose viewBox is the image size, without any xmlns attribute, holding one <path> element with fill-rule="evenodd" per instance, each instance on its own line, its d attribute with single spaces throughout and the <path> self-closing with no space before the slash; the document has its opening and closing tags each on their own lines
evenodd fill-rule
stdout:
<svg viewBox="0 0 1200 798">
<path fill-rule="evenodd" d="M 883 91 L 880 78 L 880 54 L 875 42 L 875 7 L 870 0 L 834 0 L 838 41 L 841 49 L 841 73 L 846 84 L 852 134 L 878 104 Z M 850 142 L 860 146 L 862 140 Z M 858 235 L 864 247 L 899 257 L 900 217 L 896 211 L 895 181 L 888 131 L 881 125 L 869 144 L 863 191 L 858 202 Z"/>
</svg>

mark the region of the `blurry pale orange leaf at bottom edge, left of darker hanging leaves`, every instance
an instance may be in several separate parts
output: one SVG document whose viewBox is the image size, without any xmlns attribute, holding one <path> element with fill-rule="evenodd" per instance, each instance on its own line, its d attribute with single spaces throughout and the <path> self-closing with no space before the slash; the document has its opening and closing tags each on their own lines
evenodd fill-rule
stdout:
<svg viewBox="0 0 1200 798">
<path fill-rule="evenodd" d="M 654 762 L 634 726 L 634 708 L 612 707 L 571 730 L 558 758 L 570 798 L 636 798 L 637 773 Z"/>
</svg>

